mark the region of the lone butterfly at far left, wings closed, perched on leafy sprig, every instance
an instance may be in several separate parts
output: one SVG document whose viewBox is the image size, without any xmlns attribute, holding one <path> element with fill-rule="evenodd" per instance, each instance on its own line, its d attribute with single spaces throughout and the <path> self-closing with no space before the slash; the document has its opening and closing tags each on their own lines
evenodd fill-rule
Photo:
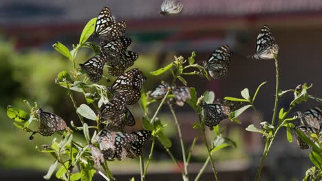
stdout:
<svg viewBox="0 0 322 181">
<path fill-rule="evenodd" d="M 43 136 L 50 136 L 54 134 L 54 132 L 67 128 L 65 121 L 56 114 L 45 112 L 39 108 L 36 110 L 36 115 L 39 118 L 38 132 Z"/>
</svg>

